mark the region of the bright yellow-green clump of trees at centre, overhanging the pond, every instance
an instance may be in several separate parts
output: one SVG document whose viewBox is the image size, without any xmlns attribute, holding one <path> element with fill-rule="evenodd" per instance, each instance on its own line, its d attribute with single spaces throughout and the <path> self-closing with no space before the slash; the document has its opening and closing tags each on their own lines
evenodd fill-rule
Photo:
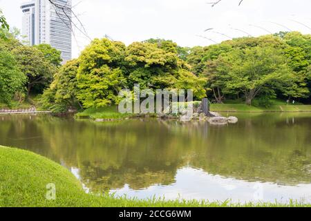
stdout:
<svg viewBox="0 0 311 221">
<path fill-rule="evenodd" d="M 79 59 L 68 62 L 55 75 L 53 84 L 44 93 L 44 107 L 57 112 L 110 106 L 120 102 L 120 90 L 133 90 L 134 84 L 153 90 L 190 88 L 198 99 L 205 97 L 206 79 L 190 72 L 178 50 L 173 41 L 162 39 L 134 42 L 128 47 L 119 41 L 95 39 Z M 60 82 L 68 75 L 73 77 L 68 84 Z M 65 85 L 70 90 L 60 92 Z"/>
</svg>

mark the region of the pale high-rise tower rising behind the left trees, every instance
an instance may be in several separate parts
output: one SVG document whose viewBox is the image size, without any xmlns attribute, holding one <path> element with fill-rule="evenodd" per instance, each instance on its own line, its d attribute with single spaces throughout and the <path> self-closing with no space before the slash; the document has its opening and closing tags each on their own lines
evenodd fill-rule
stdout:
<svg viewBox="0 0 311 221">
<path fill-rule="evenodd" d="M 62 52 L 64 62 L 71 59 L 71 0 L 33 0 L 21 5 L 22 35 L 30 45 L 50 44 Z M 64 10 L 63 10 L 64 8 Z"/>
</svg>

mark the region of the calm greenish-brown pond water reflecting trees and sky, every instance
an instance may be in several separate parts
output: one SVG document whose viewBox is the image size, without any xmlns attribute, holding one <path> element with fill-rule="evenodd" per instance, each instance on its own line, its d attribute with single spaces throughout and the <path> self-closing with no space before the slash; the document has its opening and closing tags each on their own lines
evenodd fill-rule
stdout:
<svg viewBox="0 0 311 221">
<path fill-rule="evenodd" d="M 0 116 L 0 144 L 62 164 L 86 191 L 166 199 L 311 202 L 311 113 L 237 124 Z"/>
</svg>

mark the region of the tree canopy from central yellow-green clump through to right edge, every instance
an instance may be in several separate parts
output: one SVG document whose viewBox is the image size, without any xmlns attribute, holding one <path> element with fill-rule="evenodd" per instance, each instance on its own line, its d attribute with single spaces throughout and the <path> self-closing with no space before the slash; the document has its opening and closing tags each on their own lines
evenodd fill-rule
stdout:
<svg viewBox="0 0 311 221">
<path fill-rule="evenodd" d="M 242 37 L 194 48 L 164 39 L 129 46 L 95 39 L 77 60 L 61 68 L 45 94 L 53 91 L 55 96 L 62 91 L 69 99 L 57 95 L 55 102 L 67 107 L 103 107 L 117 104 L 121 89 L 133 90 L 140 84 L 151 90 L 192 89 L 195 99 L 209 97 L 218 103 L 244 99 L 251 105 L 254 99 L 261 99 L 266 105 L 275 97 L 310 97 L 310 66 L 310 35 L 299 32 Z M 58 84 L 73 93 L 61 90 Z"/>
</svg>

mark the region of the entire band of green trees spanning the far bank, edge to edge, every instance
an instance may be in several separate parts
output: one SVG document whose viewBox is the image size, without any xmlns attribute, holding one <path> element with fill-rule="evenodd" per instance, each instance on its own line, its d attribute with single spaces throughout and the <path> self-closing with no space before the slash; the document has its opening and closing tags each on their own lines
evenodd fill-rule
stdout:
<svg viewBox="0 0 311 221">
<path fill-rule="evenodd" d="M 55 112 L 117 104 L 119 91 L 133 90 L 134 84 L 151 90 L 193 89 L 195 99 L 209 97 L 218 103 L 238 99 L 251 105 L 256 99 L 267 106 L 275 98 L 310 102 L 311 35 L 299 32 L 194 48 L 164 39 L 127 47 L 120 41 L 94 39 L 64 66 L 57 50 L 23 46 L 12 34 L 1 37 L 0 50 L 0 99 L 10 102 L 20 93 L 44 91 L 41 104 Z M 14 82 L 10 93 L 1 75 L 10 75 L 10 84 Z"/>
</svg>

